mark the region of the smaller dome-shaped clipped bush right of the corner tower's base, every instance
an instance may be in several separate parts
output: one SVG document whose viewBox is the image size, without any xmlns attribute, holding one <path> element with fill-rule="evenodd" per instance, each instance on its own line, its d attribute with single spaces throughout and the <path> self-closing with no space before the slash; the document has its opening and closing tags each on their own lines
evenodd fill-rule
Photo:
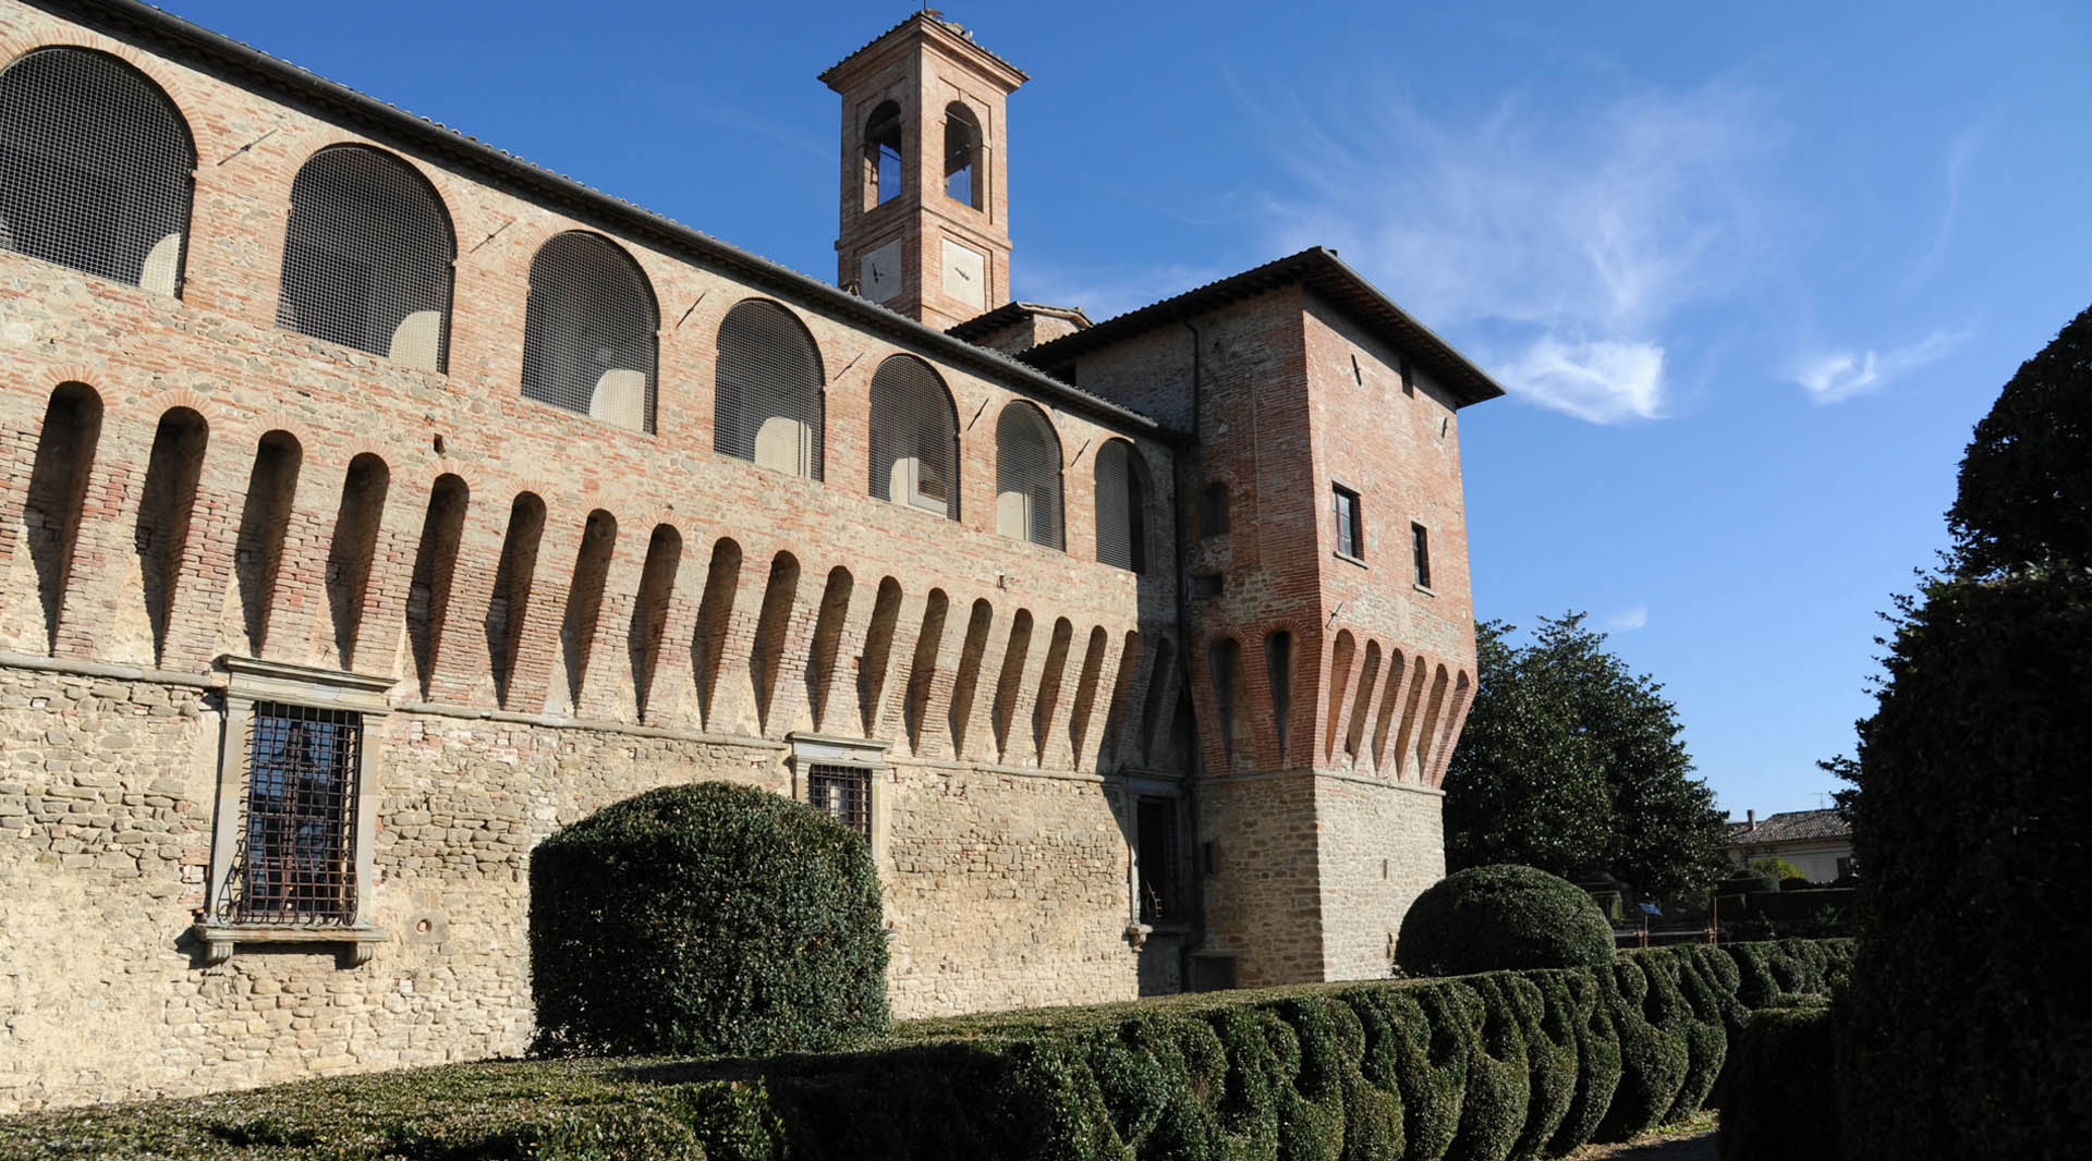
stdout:
<svg viewBox="0 0 2092 1161">
<path fill-rule="evenodd" d="M 1410 975 L 1602 966 L 1613 929 L 1567 879 L 1531 866 L 1471 866 L 1416 895 L 1402 916 L 1395 962 Z"/>
</svg>

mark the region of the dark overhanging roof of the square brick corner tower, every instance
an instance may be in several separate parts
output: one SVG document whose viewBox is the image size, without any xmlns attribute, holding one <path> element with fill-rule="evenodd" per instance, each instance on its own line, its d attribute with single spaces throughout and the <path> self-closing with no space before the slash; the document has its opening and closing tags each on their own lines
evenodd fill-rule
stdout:
<svg viewBox="0 0 2092 1161">
<path fill-rule="evenodd" d="M 1040 343 L 1019 358 L 1033 366 L 1061 366 L 1069 360 L 1144 335 L 1159 326 L 1174 326 L 1178 320 L 1205 310 L 1222 308 L 1241 299 L 1276 291 L 1278 287 L 1303 284 L 1320 299 L 1362 322 L 1374 337 L 1408 354 L 1431 372 L 1460 404 L 1479 404 L 1504 393 L 1494 379 L 1466 360 L 1446 339 L 1429 326 L 1410 318 L 1406 310 L 1351 270 L 1337 257 L 1337 251 L 1314 247 L 1295 255 L 1266 261 L 1205 287 L 1195 287 L 1182 295 L 1163 299 L 1140 310 L 1130 310 L 1117 318 L 1107 318 L 1088 331 L 1077 331 Z"/>
</svg>

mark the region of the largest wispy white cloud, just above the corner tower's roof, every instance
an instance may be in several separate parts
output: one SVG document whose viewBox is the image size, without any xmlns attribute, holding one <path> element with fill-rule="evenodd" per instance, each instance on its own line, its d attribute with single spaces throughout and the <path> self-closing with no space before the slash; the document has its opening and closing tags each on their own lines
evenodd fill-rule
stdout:
<svg viewBox="0 0 2092 1161">
<path fill-rule="evenodd" d="M 1293 188 L 1278 245 L 1341 247 L 1515 393 L 1592 423 L 1667 414 L 1676 318 L 1761 276 L 1782 130 L 1732 84 L 1458 121 L 1370 92 L 1264 103 Z"/>
</svg>

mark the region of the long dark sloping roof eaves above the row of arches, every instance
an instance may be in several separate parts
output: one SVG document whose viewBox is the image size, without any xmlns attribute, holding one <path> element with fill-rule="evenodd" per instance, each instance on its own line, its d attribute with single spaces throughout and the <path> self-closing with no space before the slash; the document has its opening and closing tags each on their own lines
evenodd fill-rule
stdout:
<svg viewBox="0 0 2092 1161">
<path fill-rule="evenodd" d="M 38 0 L 40 4 L 96 13 L 109 21 L 130 25 L 132 29 L 153 36 L 159 40 L 174 42 L 176 46 L 188 48 L 213 56 L 215 61 L 253 73 L 255 77 L 289 88 L 303 94 L 320 105 L 328 105 L 354 119 L 366 123 L 377 123 L 395 136 L 406 138 L 418 149 L 431 153 L 448 155 L 467 165 L 492 172 L 498 178 L 515 182 L 527 190 L 533 190 L 552 201 L 567 203 L 586 213 L 594 213 L 609 222 L 615 222 L 632 232 L 649 234 L 676 249 L 695 251 L 699 257 L 724 266 L 736 274 L 747 276 L 751 282 L 766 289 L 799 295 L 812 299 L 828 310 L 851 316 L 877 331 L 883 331 L 895 339 L 914 343 L 920 349 L 931 349 L 941 358 L 952 362 L 971 364 L 979 370 L 1013 379 L 1025 387 L 1040 391 L 1071 410 L 1082 410 L 1098 418 L 1107 418 L 1119 425 L 1128 425 L 1140 431 L 1153 431 L 1167 439 L 1182 441 L 1184 435 L 1165 429 L 1153 416 L 1144 416 L 1136 410 L 1102 400 L 1059 379 L 1042 372 L 1036 366 L 1021 364 L 1000 351 L 977 347 L 973 343 L 954 339 L 941 331 L 925 326 L 912 318 L 900 316 L 879 303 L 866 301 L 849 291 L 831 287 L 818 278 L 801 274 L 789 266 L 770 261 L 757 253 L 749 253 L 741 247 L 713 238 L 703 230 L 684 226 L 674 218 L 655 213 L 626 199 L 607 195 L 592 186 L 586 186 L 565 174 L 554 174 L 542 165 L 525 161 L 508 151 L 494 149 L 477 138 L 460 134 L 439 121 L 429 117 L 418 117 L 400 109 L 397 105 L 387 105 L 374 96 L 358 92 L 345 84 L 331 82 L 310 69 L 301 69 L 278 56 L 270 56 L 259 48 L 232 40 L 228 36 L 215 33 L 207 27 L 195 25 L 142 0 Z"/>
</svg>

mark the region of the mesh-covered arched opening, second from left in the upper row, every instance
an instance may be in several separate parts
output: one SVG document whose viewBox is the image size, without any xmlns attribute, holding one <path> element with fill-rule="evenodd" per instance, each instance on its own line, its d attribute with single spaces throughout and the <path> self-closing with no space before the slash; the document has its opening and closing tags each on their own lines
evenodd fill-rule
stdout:
<svg viewBox="0 0 2092 1161">
<path fill-rule="evenodd" d="M 444 370 L 456 255 L 420 174 L 377 149 L 322 149 L 291 182 L 276 324 Z"/>
</svg>

